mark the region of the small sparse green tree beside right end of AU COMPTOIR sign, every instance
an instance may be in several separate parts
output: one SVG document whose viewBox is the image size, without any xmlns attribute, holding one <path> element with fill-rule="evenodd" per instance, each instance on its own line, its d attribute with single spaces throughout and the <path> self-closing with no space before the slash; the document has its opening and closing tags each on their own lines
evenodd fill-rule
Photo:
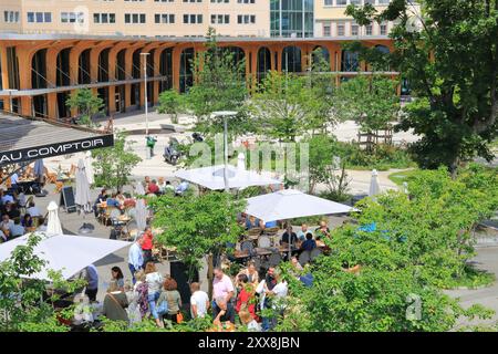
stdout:
<svg viewBox="0 0 498 354">
<path fill-rule="evenodd" d="M 96 186 L 120 190 L 129 183 L 132 169 L 142 160 L 133 150 L 134 143 L 126 140 L 125 132 L 117 132 L 114 146 L 92 150 Z"/>
</svg>

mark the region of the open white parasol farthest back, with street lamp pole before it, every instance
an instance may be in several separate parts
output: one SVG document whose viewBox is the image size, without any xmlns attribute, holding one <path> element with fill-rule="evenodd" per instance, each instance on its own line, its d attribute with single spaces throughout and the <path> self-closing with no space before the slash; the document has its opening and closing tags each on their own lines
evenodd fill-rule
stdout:
<svg viewBox="0 0 498 354">
<path fill-rule="evenodd" d="M 240 167 L 240 166 L 239 166 Z M 251 186 L 281 185 L 278 179 L 228 165 L 228 188 L 243 189 Z M 207 166 L 193 169 L 183 169 L 175 173 L 175 176 L 193 184 L 206 187 L 211 190 L 225 189 L 224 179 L 225 166 Z"/>
</svg>

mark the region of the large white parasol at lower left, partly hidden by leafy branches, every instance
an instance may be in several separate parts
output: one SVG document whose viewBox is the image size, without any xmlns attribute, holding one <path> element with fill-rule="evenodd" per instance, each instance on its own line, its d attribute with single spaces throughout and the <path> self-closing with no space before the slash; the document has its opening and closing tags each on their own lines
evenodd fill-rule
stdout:
<svg viewBox="0 0 498 354">
<path fill-rule="evenodd" d="M 64 279 L 69 279 L 85 267 L 113 253 L 131 242 L 115 241 L 93 237 L 72 235 L 49 236 L 38 232 L 42 240 L 34 248 L 34 254 L 46 261 L 43 269 L 27 278 L 50 280 L 48 270 L 61 271 Z M 9 259 L 18 246 L 25 246 L 29 235 L 0 244 L 0 262 Z"/>
</svg>

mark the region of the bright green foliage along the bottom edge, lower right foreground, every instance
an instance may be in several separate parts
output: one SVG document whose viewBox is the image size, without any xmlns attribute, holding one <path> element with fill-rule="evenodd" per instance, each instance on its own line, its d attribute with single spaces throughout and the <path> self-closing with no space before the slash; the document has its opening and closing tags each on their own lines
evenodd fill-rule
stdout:
<svg viewBox="0 0 498 354">
<path fill-rule="evenodd" d="M 289 278 L 291 296 L 277 331 L 439 332 L 453 329 L 460 315 L 489 316 L 483 309 L 461 309 L 413 268 L 367 266 L 355 275 L 343 271 L 341 256 L 318 259 L 312 288 Z"/>
</svg>

